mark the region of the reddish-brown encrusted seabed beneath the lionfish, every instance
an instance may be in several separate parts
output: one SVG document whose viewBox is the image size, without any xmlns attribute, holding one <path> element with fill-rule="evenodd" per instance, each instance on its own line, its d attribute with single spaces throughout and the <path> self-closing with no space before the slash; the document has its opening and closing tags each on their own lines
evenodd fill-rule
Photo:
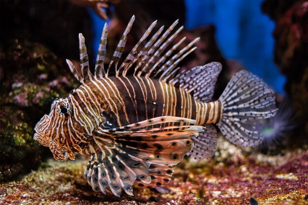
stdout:
<svg viewBox="0 0 308 205">
<path fill-rule="evenodd" d="M 157 190 L 134 187 L 134 197 L 92 191 L 83 176 L 87 160 L 48 160 L 19 181 L 0 184 L 0 204 L 23 205 L 308 205 L 308 150 L 269 156 L 219 139 L 211 162 L 185 160 Z"/>
</svg>

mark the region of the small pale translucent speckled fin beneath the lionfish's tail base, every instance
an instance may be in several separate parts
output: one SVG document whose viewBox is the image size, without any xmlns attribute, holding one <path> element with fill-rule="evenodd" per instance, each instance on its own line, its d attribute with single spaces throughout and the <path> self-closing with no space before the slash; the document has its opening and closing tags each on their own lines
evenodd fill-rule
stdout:
<svg viewBox="0 0 308 205">
<path fill-rule="evenodd" d="M 211 124 L 206 124 L 203 128 L 204 132 L 201 132 L 198 136 L 191 138 L 194 143 L 193 148 L 187 154 L 196 160 L 210 160 L 217 146 L 217 130 Z"/>
</svg>

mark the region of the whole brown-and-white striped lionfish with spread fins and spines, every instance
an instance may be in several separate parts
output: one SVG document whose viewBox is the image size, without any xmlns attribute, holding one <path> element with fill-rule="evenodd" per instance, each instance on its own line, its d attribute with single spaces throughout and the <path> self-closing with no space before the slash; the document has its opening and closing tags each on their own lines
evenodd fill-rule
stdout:
<svg viewBox="0 0 308 205">
<path fill-rule="evenodd" d="M 34 139 L 49 146 L 57 160 L 74 159 L 75 153 L 90 155 L 84 173 L 88 183 L 96 192 L 111 191 L 118 197 L 122 189 L 133 196 L 135 181 L 147 187 L 166 184 L 172 166 L 186 154 L 210 159 L 217 143 L 213 124 L 235 145 L 260 144 L 262 136 L 254 123 L 277 110 L 273 90 L 245 70 L 232 77 L 218 100 L 211 101 L 221 64 L 179 71 L 178 63 L 196 49 L 199 38 L 173 54 L 185 40 L 169 46 L 183 29 L 172 33 L 178 20 L 148 38 L 156 21 L 152 23 L 118 66 L 134 19 L 107 69 L 105 24 L 94 75 L 85 38 L 79 34 L 82 75 L 70 60 L 66 62 L 81 86 L 68 97 L 55 99 L 50 114 L 34 128 Z"/>
</svg>

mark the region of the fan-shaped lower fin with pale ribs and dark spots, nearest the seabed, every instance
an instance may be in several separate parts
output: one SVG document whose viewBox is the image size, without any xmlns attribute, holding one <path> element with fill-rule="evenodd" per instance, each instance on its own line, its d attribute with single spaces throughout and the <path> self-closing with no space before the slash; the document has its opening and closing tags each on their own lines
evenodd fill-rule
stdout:
<svg viewBox="0 0 308 205">
<path fill-rule="evenodd" d="M 151 176 L 147 162 L 130 156 L 122 151 L 108 135 L 102 136 L 100 128 L 96 131 L 91 143 L 92 155 L 85 170 L 88 183 L 94 191 L 104 194 L 107 188 L 120 197 L 122 189 L 133 196 L 132 185 L 136 179 L 150 183 Z"/>
</svg>

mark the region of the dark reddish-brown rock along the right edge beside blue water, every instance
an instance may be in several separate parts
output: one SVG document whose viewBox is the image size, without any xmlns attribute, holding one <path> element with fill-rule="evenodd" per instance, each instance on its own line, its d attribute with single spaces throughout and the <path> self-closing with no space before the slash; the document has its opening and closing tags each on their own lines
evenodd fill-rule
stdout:
<svg viewBox="0 0 308 205">
<path fill-rule="evenodd" d="M 275 7 L 275 9 L 271 9 Z M 308 143 L 308 2 L 272 1 L 262 5 L 276 22 L 275 61 L 287 77 L 285 90 L 296 111 L 298 129 L 292 144 Z M 303 142 L 304 141 L 304 142 Z"/>
</svg>

